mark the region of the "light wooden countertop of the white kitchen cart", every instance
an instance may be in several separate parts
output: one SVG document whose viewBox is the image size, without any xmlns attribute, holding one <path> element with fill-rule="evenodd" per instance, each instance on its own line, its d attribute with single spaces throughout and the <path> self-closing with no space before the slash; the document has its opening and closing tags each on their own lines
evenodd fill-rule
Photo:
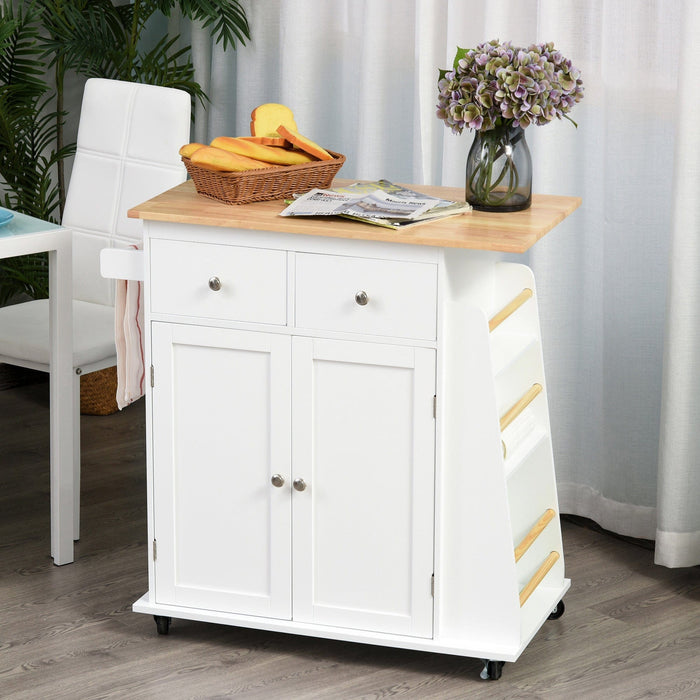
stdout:
<svg viewBox="0 0 700 700">
<path fill-rule="evenodd" d="M 337 179 L 337 186 L 354 180 Z M 407 185 L 417 192 L 464 201 L 457 187 Z M 532 206 L 507 214 L 471 211 L 458 216 L 416 224 L 393 231 L 339 217 L 279 216 L 282 200 L 252 204 L 224 204 L 197 194 L 191 180 L 128 212 L 132 218 L 172 223 L 202 224 L 262 231 L 280 231 L 331 238 L 389 241 L 438 248 L 470 248 L 506 253 L 524 253 L 581 204 L 579 197 L 533 195 Z"/>
</svg>

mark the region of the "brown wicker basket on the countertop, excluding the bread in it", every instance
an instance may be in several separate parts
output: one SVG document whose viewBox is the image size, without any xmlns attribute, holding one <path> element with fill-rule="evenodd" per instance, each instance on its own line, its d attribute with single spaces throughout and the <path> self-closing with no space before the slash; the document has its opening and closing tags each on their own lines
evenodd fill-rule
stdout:
<svg viewBox="0 0 700 700">
<path fill-rule="evenodd" d="M 226 204 L 248 204 L 268 199 L 285 199 L 314 187 L 329 187 L 343 167 L 345 156 L 333 153 L 333 160 L 318 160 L 303 165 L 281 165 L 238 173 L 207 170 L 182 159 L 199 194 Z"/>
</svg>

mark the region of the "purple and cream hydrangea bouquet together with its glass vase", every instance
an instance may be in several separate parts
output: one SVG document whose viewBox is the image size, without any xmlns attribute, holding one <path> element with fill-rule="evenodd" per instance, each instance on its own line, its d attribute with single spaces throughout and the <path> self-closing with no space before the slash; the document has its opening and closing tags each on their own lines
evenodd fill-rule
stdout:
<svg viewBox="0 0 700 700">
<path fill-rule="evenodd" d="M 524 130 L 569 117 L 583 99 L 580 72 L 552 43 L 528 48 L 493 40 L 458 48 L 452 70 L 440 70 L 437 116 L 456 134 L 475 138 L 467 158 L 466 199 L 476 209 L 530 206 L 532 164 Z"/>
</svg>

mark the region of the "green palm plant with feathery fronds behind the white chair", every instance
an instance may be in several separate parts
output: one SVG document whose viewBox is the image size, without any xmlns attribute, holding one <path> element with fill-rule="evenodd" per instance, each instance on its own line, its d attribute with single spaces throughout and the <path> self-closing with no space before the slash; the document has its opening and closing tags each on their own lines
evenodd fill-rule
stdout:
<svg viewBox="0 0 700 700">
<path fill-rule="evenodd" d="M 224 49 L 250 29 L 239 0 L 33 0 L 0 4 L 0 203 L 47 221 L 65 200 L 65 81 L 74 75 L 177 87 L 205 102 L 189 46 L 161 33 L 157 15 L 179 11 L 208 28 Z M 150 32 L 154 34 L 154 32 Z M 44 255 L 0 260 L 0 304 L 48 294 Z"/>
</svg>

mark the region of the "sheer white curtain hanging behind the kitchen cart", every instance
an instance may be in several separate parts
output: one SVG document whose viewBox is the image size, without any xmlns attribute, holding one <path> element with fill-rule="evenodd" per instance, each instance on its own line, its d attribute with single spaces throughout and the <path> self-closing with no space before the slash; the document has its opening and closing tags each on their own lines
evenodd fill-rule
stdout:
<svg viewBox="0 0 700 700">
<path fill-rule="evenodd" d="M 518 259 L 538 280 L 564 513 L 700 564 L 700 4 L 695 0 L 244 0 L 252 41 L 193 28 L 211 104 L 194 137 L 263 102 L 347 156 L 341 176 L 463 186 L 471 134 L 435 116 L 456 47 L 553 41 L 572 117 L 531 127 L 534 190 L 583 206 Z"/>
</svg>

